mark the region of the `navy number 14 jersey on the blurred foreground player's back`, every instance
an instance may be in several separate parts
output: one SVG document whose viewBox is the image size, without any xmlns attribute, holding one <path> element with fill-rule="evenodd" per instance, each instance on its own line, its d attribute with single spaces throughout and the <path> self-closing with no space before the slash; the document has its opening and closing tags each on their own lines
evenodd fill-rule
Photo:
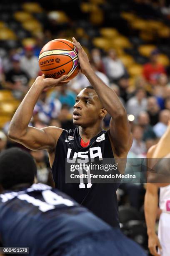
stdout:
<svg viewBox="0 0 170 256">
<path fill-rule="evenodd" d="M 89 233 L 111 230 L 77 202 L 45 184 L 0 194 L 0 239 L 4 247 L 29 247 L 50 256 Z"/>
</svg>

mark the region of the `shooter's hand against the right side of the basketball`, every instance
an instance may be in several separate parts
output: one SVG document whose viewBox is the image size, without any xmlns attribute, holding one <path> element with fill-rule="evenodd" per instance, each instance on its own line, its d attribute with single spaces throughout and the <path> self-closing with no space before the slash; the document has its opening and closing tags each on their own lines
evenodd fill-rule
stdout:
<svg viewBox="0 0 170 256">
<path fill-rule="evenodd" d="M 83 74 L 85 74 L 86 72 L 89 71 L 89 69 L 91 69 L 88 56 L 85 53 L 84 49 L 82 48 L 81 44 L 78 43 L 74 37 L 72 38 L 72 41 L 73 41 L 73 45 L 76 47 L 78 51 L 78 59 L 79 59 L 81 71 Z"/>
</svg>

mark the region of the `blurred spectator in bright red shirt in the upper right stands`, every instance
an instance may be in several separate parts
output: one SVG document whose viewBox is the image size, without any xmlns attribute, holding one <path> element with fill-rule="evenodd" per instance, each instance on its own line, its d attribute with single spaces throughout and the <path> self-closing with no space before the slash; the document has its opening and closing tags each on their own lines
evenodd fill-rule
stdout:
<svg viewBox="0 0 170 256">
<path fill-rule="evenodd" d="M 152 85 L 157 83 L 160 74 L 166 74 L 165 68 L 158 63 L 159 51 L 153 50 L 150 55 L 150 62 L 143 66 L 143 76 Z"/>
</svg>

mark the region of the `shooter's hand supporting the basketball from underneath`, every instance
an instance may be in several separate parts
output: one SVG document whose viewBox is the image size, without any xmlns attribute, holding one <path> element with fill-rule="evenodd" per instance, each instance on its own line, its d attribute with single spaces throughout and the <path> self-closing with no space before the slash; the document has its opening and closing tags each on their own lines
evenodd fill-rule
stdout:
<svg viewBox="0 0 170 256">
<path fill-rule="evenodd" d="M 64 84 L 67 84 L 68 82 L 62 82 L 65 79 L 67 79 L 68 76 L 64 75 L 60 78 L 54 79 L 54 78 L 45 78 L 45 75 L 39 76 L 36 78 L 34 84 L 35 86 L 39 86 L 42 88 L 42 90 L 44 89 L 49 89 L 49 88 L 54 88 L 56 86 L 61 86 Z"/>
</svg>

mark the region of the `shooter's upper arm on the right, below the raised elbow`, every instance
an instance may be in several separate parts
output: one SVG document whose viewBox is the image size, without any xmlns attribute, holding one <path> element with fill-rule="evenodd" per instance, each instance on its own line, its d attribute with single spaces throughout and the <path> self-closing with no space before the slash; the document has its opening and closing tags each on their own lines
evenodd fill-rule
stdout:
<svg viewBox="0 0 170 256">
<path fill-rule="evenodd" d="M 109 125 L 110 137 L 115 147 L 115 151 L 129 151 L 132 146 L 132 134 L 127 115 L 120 118 L 110 119 Z"/>
</svg>

